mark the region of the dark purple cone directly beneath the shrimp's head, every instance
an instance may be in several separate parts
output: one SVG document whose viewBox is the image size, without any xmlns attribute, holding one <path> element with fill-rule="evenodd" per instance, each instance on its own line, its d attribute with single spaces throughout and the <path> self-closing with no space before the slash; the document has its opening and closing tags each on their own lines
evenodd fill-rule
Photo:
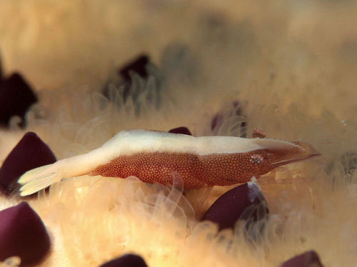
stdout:
<svg viewBox="0 0 357 267">
<path fill-rule="evenodd" d="M 223 193 L 206 211 L 202 221 L 218 223 L 219 230 L 234 228 L 236 221 L 256 222 L 268 213 L 261 188 L 256 183 L 244 183 Z"/>
</svg>

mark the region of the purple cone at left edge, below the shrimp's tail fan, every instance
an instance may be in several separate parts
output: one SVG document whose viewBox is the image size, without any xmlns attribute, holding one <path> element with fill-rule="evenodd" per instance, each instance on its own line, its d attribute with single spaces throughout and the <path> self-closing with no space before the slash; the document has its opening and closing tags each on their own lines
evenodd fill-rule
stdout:
<svg viewBox="0 0 357 267">
<path fill-rule="evenodd" d="M 21 266 L 44 260 L 51 246 L 44 223 L 28 203 L 0 211 L 0 261 L 21 258 Z"/>
</svg>

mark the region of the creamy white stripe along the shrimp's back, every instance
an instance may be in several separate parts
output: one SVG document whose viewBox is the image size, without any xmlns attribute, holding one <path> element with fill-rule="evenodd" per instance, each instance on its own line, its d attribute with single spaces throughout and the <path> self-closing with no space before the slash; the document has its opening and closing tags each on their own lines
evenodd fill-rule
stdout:
<svg viewBox="0 0 357 267">
<path fill-rule="evenodd" d="M 111 156 L 135 153 L 246 153 L 263 148 L 293 148 L 297 145 L 287 141 L 268 138 L 240 138 L 233 136 L 188 136 L 162 131 L 121 131 L 104 143 L 106 153 Z M 298 146 L 299 147 L 299 146 Z M 107 156 L 109 156 L 107 154 Z"/>
</svg>

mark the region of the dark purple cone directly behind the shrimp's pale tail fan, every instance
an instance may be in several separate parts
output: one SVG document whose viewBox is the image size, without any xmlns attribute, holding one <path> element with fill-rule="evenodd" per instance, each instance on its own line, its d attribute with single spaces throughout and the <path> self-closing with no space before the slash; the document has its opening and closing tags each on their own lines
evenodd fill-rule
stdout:
<svg viewBox="0 0 357 267">
<path fill-rule="evenodd" d="M 17 143 L 1 166 L 0 188 L 4 193 L 11 193 L 23 173 L 54 162 L 56 157 L 49 146 L 30 131 Z"/>
</svg>

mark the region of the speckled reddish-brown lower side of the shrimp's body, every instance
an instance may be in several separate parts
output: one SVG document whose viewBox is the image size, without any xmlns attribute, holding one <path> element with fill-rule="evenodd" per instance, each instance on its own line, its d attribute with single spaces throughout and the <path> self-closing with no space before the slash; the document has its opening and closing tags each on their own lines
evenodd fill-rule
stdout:
<svg viewBox="0 0 357 267">
<path fill-rule="evenodd" d="M 296 148 L 298 149 L 298 148 Z M 246 183 L 252 176 L 268 173 L 272 168 L 289 163 L 283 161 L 294 151 L 269 151 L 268 149 L 249 153 L 213 153 L 197 155 L 192 153 L 136 153 L 119 156 L 109 163 L 98 166 L 90 175 L 106 177 L 136 176 L 146 183 L 172 183 L 171 171 L 180 173 L 185 188 L 205 186 L 228 186 Z M 295 152 L 296 153 L 296 152 Z M 261 161 L 252 157 L 259 156 Z"/>
</svg>

